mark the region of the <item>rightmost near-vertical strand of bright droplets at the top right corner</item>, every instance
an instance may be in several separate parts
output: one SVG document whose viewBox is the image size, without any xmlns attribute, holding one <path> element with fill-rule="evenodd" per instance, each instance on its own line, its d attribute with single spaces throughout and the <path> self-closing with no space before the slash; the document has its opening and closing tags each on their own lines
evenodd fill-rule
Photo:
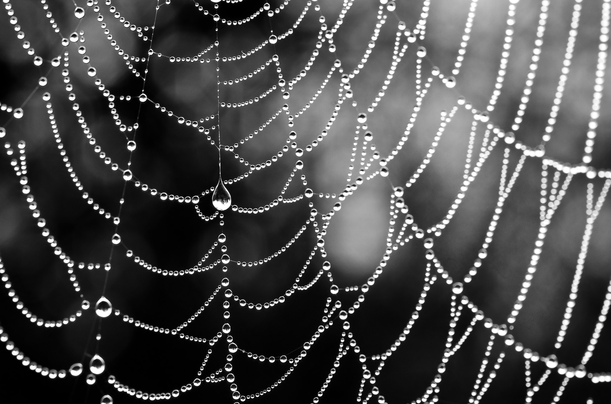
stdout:
<svg viewBox="0 0 611 404">
<path fill-rule="evenodd" d="M 596 63 L 596 84 L 594 85 L 594 95 L 592 97 L 592 110 L 590 112 L 590 123 L 588 123 L 588 139 L 585 141 L 584 156 L 582 161 L 589 164 L 592 161 L 592 151 L 594 150 L 594 139 L 596 128 L 598 128 L 598 118 L 601 109 L 602 90 L 605 82 L 605 70 L 607 69 L 607 42 L 609 42 L 609 10 L 611 9 L 610 0 L 602 3 L 601 35 L 598 45 L 598 62 Z"/>
</svg>

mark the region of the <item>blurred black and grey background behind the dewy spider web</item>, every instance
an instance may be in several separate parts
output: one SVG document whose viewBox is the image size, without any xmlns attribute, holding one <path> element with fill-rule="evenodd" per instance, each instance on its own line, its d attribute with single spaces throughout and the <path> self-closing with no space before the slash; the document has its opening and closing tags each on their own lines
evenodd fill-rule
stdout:
<svg viewBox="0 0 611 404">
<path fill-rule="evenodd" d="M 148 43 L 138 37 L 136 31 L 124 27 L 123 21 L 114 18 L 113 14 L 120 12 L 120 18 L 135 26 L 151 27 L 155 21 L 156 1 L 115 0 L 112 2 L 112 6 L 116 7 L 114 12 L 109 10 L 111 5 L 98 2 L 112 40 L 126 54 L 141 58 L 140 62 L 130 60 L 129 63 L 133 65 L 131 68 L 144 72 L 146 63 L 142 60 L 147 56 Z M 236 4 L 220 2 L 216 12 L 227 20 L 241 20 L 257 12 L 263 3 L 258 0 Z M 587 139 L 602 3 L 602 0 L 592 0 L 582 4 L 564 97 L 552 140 L 546 145 L 547 156 L 568 164 L 580 164 Z M 274 10 L 284 3 L 269 1 L 269 4 Z M 84 0 L 76 0 L 76 5 L 86 10 L 84 18 L 79 20 L 75 18 L 75 4 L 71 1 L 48 0 L 41 4 L 38 0 L 20 0 L 12 3 L 21 31 L 26 34 L 25 40 L 31 43 L 36 55 L 45 62 L 40 67 L 32 63 L 34 56 L 27 54 L 23 39 L 16 37 L 19 30 L 15 30 L 15 25 L 10 23 L 9 15 L 3 15 L 0 18 L 0 102 L 13 108 L 19 107 L 37 87 L 41 76 L 48 78 L 48 84 L 35 91 L 24 105 L 23 118 L 11 118 L 12 114 L 5 108 L 0 111 L 0 126 L 6 129 L 6 136 L 2 140 L 12 143 L 15 150 L 18 141 L 26 142 L 27 177 L 32 194 L 42 217 L 46 219 L 46 227 L 65 253 L 76 262 L 99 262 L 103 266 L 111 254 L 114 225 L 94 212 L 82 198 L 82 192 L 73 186 L 62 157 L 57 153 L 46 113 L 46 101 L 42 99 L 43 92 L 51 93 L 53 113 L 62 142 L 84 190 L 113 216 L 119 212 L 119 199 L 125 181 L 120 170 L 111 170 L 94 153 L 72 109 L 73 103 L 79 104 L 97 144 L 122 168 L 130 159 L 126 135 L 129 139 L 133 138 L 133 132 L 122 132 L 115 124 L 108 99 L 94 84 L 95 79 L 87 74 L 87 65 L 81 63 L 82 55 L 78 47 L 86 46 L 90 64 L 97 70 L 97 78 L 116 97 L 115 109 L 123 123 L 133 125 L 138 117 L 137 148 L 131 157 L 134 177 L 159 192 L 200 195 L 218 182 L 218 149 L 207 140 L 207 134 L 199 132 L 197 128 L 178 124 L 177 117 L 199 120 L 217 113 L 216 63 L 177 63 L 170 62 L 169 57 L 197 56 L 214 44 L 217 34 L 221 57 L 241 56 L 268 39 L 271 29 L 276 35 L 290 29 L 306 4 L 304 0 L 291 0 L 271 18 L 260 15 L 238 26 L 219 23 L 218 32 L 211 16 L 215 13 L 213 2 L 203 0 L 197 4 L 188 0 L 172 0 L 169 4 L 161 5 L 154 23 L 152 48 L 164 56 L 150 58 L 145 93 L 152 102 L 141 104 L 137 96 L 141 93 L 142 80 L 134 76 L 123 56 L 111 46 L 93 7 L 87 7 Z M 48 8 L 45 9 L 44 5 Z M 316 5 L 320 5 L 320 12 L 314 10 Z M 384 8 L 388 18 L 379 32 L 375 48 L 365 67 L 351 80 L 354 100 L 360 112 L 365 112 L 384 84 L 392 62 L 398 22 L 404 21 L 409 29 L 413 29 L 420 18 L 422 5 L 422 1 L 400 0 L 393 12 L 387 12 Z M 470 5 L 468 0 L 436 0 L 430 5 L 425 39 L 409 43 L 392 84 L 375 111 L 368 113 L 368 129 L 373 132 L 373 143 L 382 156 L 387 156 L 401 139 L 415 104 L 417 46 L 425 46 L 427 51 L 423 63 L 425 78 L 430 76 L 433 66 L 450 75 Z M 326 260 L 331 262 L 333 283 L 340 287 L 364 284 L 374 272 L 386 250 L 392 187 L 403 186 L 426 156 L 439 126 L 441 111 L 451 110 L 459 96 L 466 97 L 477 109 L 484 109 L 487 105 L 499 70 L 509 5 L 510 2 L 504 0 L 478 2 L 463 67 L 456 76 L 456 87 L 449 89 L 439 79 L 433 81 L 408 142 L 389 163 L 390 175 L 365 181 L 354 195 L 343 201 L 342 209 L 336 212 L 324 236 L 327 256 L 322 258 L 320 252 L 316 254 L 305 270 L 304 283 L 312 280 Z M 380 2 L 377 1 L 354 1 L 334 35 L 334 45 L 337 46 L 335 54 L 329 52 L 327 43 L 323 43 L 312 67 L 290 91 L 290 98 L 285 99 L 277 89 L 257 103 L 240 108 L 221 108 L 222 145 L 239 143 L 276 114 L 285 103 L 290 114 L 295 114 L 316 94 L 335 59 L 342 61 L 344 72 L 356 68 L 373 35 L 379 6 Z M 571 0 L 557 0 L 549 7 L 538 74 L 533 82 L 521 129 L 515 134 L 518 141 L 529 146 L 541 142 L 547 125 L 565 57 L 573 6 Z M 320 15 L 326 16 L 326 24 L 331 26 L 342 7 L 340 1 L 312 2 L 299 26 L 287 38 L 279 40 L 274 46 L 266 45 L 245 59 L 219 62 L 220 81 L 244 76 L 265 64 L 274 54 L 279 56 L 284 78 L 290 81 L 304 69 L 316 48 L 321 29 Z M 522 96 L 535 47 L 540 7 L 540 1 L 535 0 L 521 0 L 516 5 L 516 24 L 507 73 L 496 109 L 490 114 L 490 120 L 505 131 L 511 130 Z M 46 16 L 48 12 L 53 14 L 59 33 L 54 32 Z M 84 42 L 70 42 L 67 47 L 62 46 L 62 38 L 69 37 L 72 32 L 78 32 Z M 143 31 L 145 35 L 152 35 L 152 32 L 152 29 Z M 406 37 L 401 43 L 404 41 Z M 76 95 L 75 101 L 68 99 L 69 92 L 65 90 L 61 74 L 65 67 L 52 68 L 49 63 L 64 51 L 70 54 L 70 66 L 67 68 L 70 70 L 71 92 Z M 213 59 L 214 52 L 213 48 L 202 57 Z M 288 144 L 286 140 L 290 131 L 296 132 L 296 142 L 301 148 L 315 140 L 325 129 L 337 103 L 340 77 L 341 74 L 335 71 L 315 103 L 296 118 L 295 126 L 288 126 L 287 114 L 283 110 L 265 129 L 238 148 L 240 157 L 250 164 L 262 164 Z M 221 85 L 220 98 L 225 103 L 240 103 L 266 92 L 277 85 L 277 81 L 277 73 L 270 65 L 252 79 Z M 609 96 L 606 87 L 602 92 L 601 117 L 590 164 L 599 169 L 611 168 L 611 116 L 607 114 Z M 171 110 L 174 115 L 169 117 L 162 113 L 155 103 Z M 302 174 L 305 175 L 307 187 L 315 193 L 342 192 L 350 164 L 357 109 L 350 105 L 349 100 L 345 101 L 324 141 L 313 151 L 298 157 L 293 149 L 289 149 L 271 167 L 254 170 L 246 179 L 227 186 L 232 203 L 240 207 L 269 204 L 280 195 L 299 159 L 304 162 L 304 167 L 296 171 L 284 194 L 285 198 L 304 192 L 306 186 L 298 178 Z M 404 193 L 409 213 L 420 228 L 428 228 L 439 222 L 459 192 L 471 122 L 472 115 L 459 107 L 439 141 L 430 164 L 419 181 Z M 202 126 L 210 128 L 214 124 L 215 121 L 205 121 Z M 475 137 L 476 153 L 483 137 L 481 126 Z M 217 139 L 217 130 L 210 131 L 211 139 Z M 505 143 L 499 144 L 492 151 L 452 222 L 435 240 L 437 257 L 456 280 L 469 271 L 486 237 L 496 207 L 504 146 Z M 0 254 L 12 287 L 27 308 L 38 317 L 60 320 L 79 309 L 82 298 L 75 294 L 68 281 L 67 267 L 54 256 L 53 248 L 49 248 L 45 238 L 40 236 L 40 229 L 21 193 L 19 180 L 13 175 L 11 158 L 4 153 L 0 157 Z M 512 147 L 510 170 L 513 170 L 518 159 L 519 154 Z M 221 151 L 221 163 L 224 179 L 236 178 L 249 170 L 233 158 L 230 151 Z M 554 353 L 560 363 L 568 366 L 579 364 L 585 352 L 611 275 L 611 207 L 607 201 L 594 225 L 571 325 L 563 347 L 555 350 L 555 337 L 562 323 L 585 229 L 588 182 L 593 182 L 595 197 L 598 198 L 603 183 L 601 179 L 590 180 L 585 175 L 577 175 L 573 179 L 549 226 L 536 276 L 515 328 L 511 330 L 516 341 L 522 342 L 525 347 L 541 356 Z M 494 240 L 488 248 L 488 258 L 474 281 L 465 285 L 464 294 L 495 323 L 503 323 L 507 319 L 530 262 L 539 227 L 540 184 L 541 159 L 528 158 L 505 203 Z M 133 259 L 125 256 L 125 250 L 133 250 L 135 255 L 161 269 L 185 270 L 196 265 L 208 253 L 222 231 L 227 235 L 225 245 L 233 261 L 258 261 L 278 251 L 295 237 L 309 218 L 308 200 L 303 198 L 296 203 L 280 203 L 257 215 L 225 211 L 221 230 L 219 218 L 200 220 L 193 204 L 161 201 L 136 189 L 133 182 L 125 187 L 124 198 L 119 225 L 122 245 L 115 246 L 112 252 L 112 270 L 105 295 L 122 314 L 164 328 L 173 329 L 185 322 L 207 301 L 225 277 L 229 278 L 233 293 L 246 301 L 265 303 L 284 295 L 299 275 L 316 242 L 316 234 L 309 226 L 287 253 L 263 265 L 238 267 L 235 262 L 230 262 L 227 272 L 222 272 L 219 265 L 205 273 L 163 276 L 134 264 Z M 327 212 L 337 199 L 314 197 L 312 201 L 319 212 Z M 204 215 L 214 214 L 210 193 L 201 198 L 199 207 Z M 367 356 L 384 353 L 406 326 L 424 282 L 424 253 L 425 248 L 419 240 L 394 251 L 384 268 L 384 274 L 365 295 L 357 314 L 350 317 L 349 331 L 354 334 L 361 353 Z M 220 256 L 217 247 L 211 257 L 218 259 Z M 105 271 L 76 269 L 75 273 L 83 298 L 93 305 L 102 293 Z M 288 297 L 285 303 L 260 311 L 241 307 L 232 299 L 227 299 L 231 303 L 229 322 L 235 342 L 247 352 L 258 355 L 276 358 L 280 355 L 297 355 L 320 325 L 326 298 L 331 296 L 329 286 L 331 283 L 325 275 L 310 289 Z M 356 292 L 340 292 L 332 295 L 332 298 L 342 301 L 343 308 L 346 308 L 357 295 Z M 441 362 L 445 349 L 451 295 L 450 288 L 441 280 L 437 281 L 428 293 L 420 319 L 408 339 L 385 361 L 386 365 L 376 377 L 376 386 L 387 402 L 412 402 L 424 393 L 436 375 L 437 364 Z M 219 294 L 185 332 L 211 339 L 227 321 L 222 317 L 225 310 L 222 308 L 223 301 Z M 67 369 L 71 364 L 82 361 L 82 358 L 85 358 L 84 363 L 88 363 L 87 355 L 95 353 L 95 346 L 106 360 L 106 372 L 98 377 L 96 384 L 88 386 L 84 381 L 86 372 L 79 378 L 68 376 L 64 380 L 49 380 L 21 366 L 9 350 L 2 350 L 0 397 L 4 403 L 49 399 L 67 403 L 97 403 L 103 394 L 111 394 L 119 403 L 136 402 L 135 397 L 117 392 L 106 383 L 108 375 L 114 375 L 121 383 L 136 390 L 169 392 L 192 383 L 210 348 L 207 344 L 184 341 L 171 334 L 161 335 L 135 328 L 123 322 L 122 316 L 101 320 L 101 339 L 96 341 L 100 320 L 92 309 L 84 311 L 77 322 L 62 328 L 39 327 L 25 319 L 4 292 L 0 296 L 0 308 L 0 324 L 4 331 L 9 333 L 18 348 L 43 366 Z M 469 316 L 463 314 L 457 335 L 461 335 L 468 320 Z M 325 382 L 329 369 L 333 367 L 342 331 L 340 320 L 336 319 L 334 326 L 322 334 L 286 381 L 271 393 L 254 400 L 266 403 L 287 400 L 312 402 Z M 440 385 L 439 402 L 467 402 L 488 339 L 489 330 L 478 322 L 474 333 L 448 362 Z M 610 330 L 604 328 L 594 356 L 588 363 L 588 372 L 611 371 L 610 342 Z M 214 352 L 202 372 L 203 377 L 226 363 L 225 344 L 221 340 L 213 347 Z M 491 357 L 496 358 L 501 349 L 505 347 L 499 341 Z M 83 356 L 84 353 L 86 356 Z M 235 373 L 241 394 L 255 394 L 267 388 L 284 375 L 289 366 L 277 361 L 273 364 L 254 361 L 241 352 L 233 356 L 232 372 Z M 371 362 L 368 364 L 369 369 L 375 369 Z M 533 364 L 533 381 L 538 380 L 545 369 L 544 363 Z M 361 374 L 357 355 L 349 353 L 342 359 L 320 402 L 356 400 Z M 497 377 L 483 401 L 513 403 L 524 400 L 524 377 L 524 358 L 513 348 L 508 348 L 503 366 L 497 371 Z M 561 381 L 560 375 L 552 372 L 533 401 L 551 402 Z M 365 387 L 365 394 L 368 391 L 369 384 Z M 608 399 L 609 394 L 610 388 L 606 383 L 593 384 L 588 378 L 574 378 L 569 382 L 562 400 L 585 403 L 588 397 L 593 397 L 595 402 L 604 402 L 604 397 Z M 203 383 L 199 388 L 181 394 L 177 400 L 185 403 L 195 400 L 219 403 L 235 401 L 226 381 Z M 376 398 L 372 400 L 375 402 Z"/>
</svg>

